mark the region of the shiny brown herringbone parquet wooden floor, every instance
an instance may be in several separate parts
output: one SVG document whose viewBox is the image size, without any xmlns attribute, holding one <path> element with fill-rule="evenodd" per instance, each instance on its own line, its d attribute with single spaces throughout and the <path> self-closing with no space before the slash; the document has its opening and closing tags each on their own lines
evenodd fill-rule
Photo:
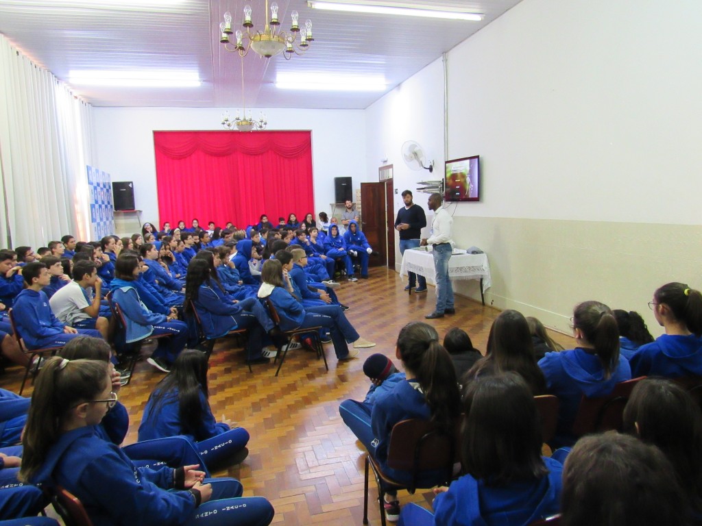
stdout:
<svg viewBox="0 0 702 526">
<path fill-rule="evenodd" d="M 361 525 L 363 517 L 364 448 L 339 417 L 346 398 L 362 400 L 368 389 L 363 363 L 371 353 L 390 356 L 395 364 L 397 333 L 409 321 L 424 321 L 433 310 L 435 289 L 408 296 L 404 283 L 385 267 L 371 269 L 369 280 L 343 283 L 340 301 L 351 307 L 346 315 L 359 334 L 376 342 L 362 349 L 356 360 L 338 363 L 331 344 L 325 345 L 329 372 L 312 353 L 289 353 L 279 377 L 274 365 L 244 365 L 241 349 L 232 342 L 219 344 L 210 360 L 210 403 L 219 419 L 225 415 L 251 433 L 249 457 L 217 476 L 241 480 L 244 495 L 267 497 L 275 508 L 273 522 L 286 526 L 325 524 Z M 456 315 L 432 320 L 439 337 L 461 327 L 474 346 L 484 352 L 487 335 L 499 311 L 479 302 L 456 297 Z M 569 339 L 554 335 L 562 344 Z M 137 365 L 131 384 L 119 399 L 129 410 L 131 426 L 126 444 L 136 441 L 143 407 L 163 375 L 145 362 Z M 22 370 L 11 367 L 0 377 L 0 387 L 18 392 Z M 25 389 L 29 396 L 32 388 Z M 380 524 L 375 482 L 370 483 L 369 521 Z M 430 493 L 400 492 L 402 504 L 427 502 Z"/>
</svg>

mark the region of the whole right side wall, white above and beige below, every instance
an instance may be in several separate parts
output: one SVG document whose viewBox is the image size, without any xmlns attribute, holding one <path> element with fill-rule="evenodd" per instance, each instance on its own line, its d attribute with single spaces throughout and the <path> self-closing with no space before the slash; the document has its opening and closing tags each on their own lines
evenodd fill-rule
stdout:
<svg viewBox="0 0 702 526">
<path fill-rule="evenodd" d="M 482 202 L 449 212 L 458 245 L 490 257 L 487 302 L 567 330 L 574 304 L 600 299 L 655 333 L 654 289 L 702 286 L 701 15 L 691 0 L 523 0 L 448 53 L 447 156 L 479 154 L 483 175 Z M 367 110 L 369 171 L 390 149 L 396 188 L 418 180 L 406 139 L 442 168 L 440 71 Z"/>
</svg>

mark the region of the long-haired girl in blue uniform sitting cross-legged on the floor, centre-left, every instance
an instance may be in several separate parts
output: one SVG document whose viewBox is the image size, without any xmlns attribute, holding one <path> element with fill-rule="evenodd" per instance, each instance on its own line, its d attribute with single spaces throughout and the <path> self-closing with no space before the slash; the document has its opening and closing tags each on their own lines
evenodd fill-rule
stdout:
<svg viewBox="0 0 702 526">
<path fill-rule="evenodd" d="M 149 397 L 139 426 L 139 440 L 183 435 L 197 447 L 208 468 L 240 462 L 249 433 L 226 420 L 217 422 L 208 402 L 207 356 L 180 353 L 173 370 Z"/>
</svg>

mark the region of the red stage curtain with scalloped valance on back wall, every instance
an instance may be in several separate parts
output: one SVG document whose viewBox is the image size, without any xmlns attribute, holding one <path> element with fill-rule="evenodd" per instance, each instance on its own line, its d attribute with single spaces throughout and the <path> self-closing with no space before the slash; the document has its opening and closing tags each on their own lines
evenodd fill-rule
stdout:
<svg viewBox="0 0 702 526">
<path fill-rule="evenodd" d="M 314 213 L 310 131 L 154 131 L 154 150 L 161 224 Z"/>
</svg>

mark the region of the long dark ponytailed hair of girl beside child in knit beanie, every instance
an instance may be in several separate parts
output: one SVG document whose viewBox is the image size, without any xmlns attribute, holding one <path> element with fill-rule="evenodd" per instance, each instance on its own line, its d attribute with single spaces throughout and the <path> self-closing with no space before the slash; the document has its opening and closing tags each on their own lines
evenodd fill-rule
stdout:
<svg viewBox="0 0 702 526">
<path fill-rule="evenodd" d="M 461 413 L 461 393 L 451 356 L 439 344 L 435 328 L 421 322 L 408 323 L 400 330 L 397 348 L 404 367 L 422 388 L 432 422 L 446 433 L 451 432 Z"/>
</svg>

